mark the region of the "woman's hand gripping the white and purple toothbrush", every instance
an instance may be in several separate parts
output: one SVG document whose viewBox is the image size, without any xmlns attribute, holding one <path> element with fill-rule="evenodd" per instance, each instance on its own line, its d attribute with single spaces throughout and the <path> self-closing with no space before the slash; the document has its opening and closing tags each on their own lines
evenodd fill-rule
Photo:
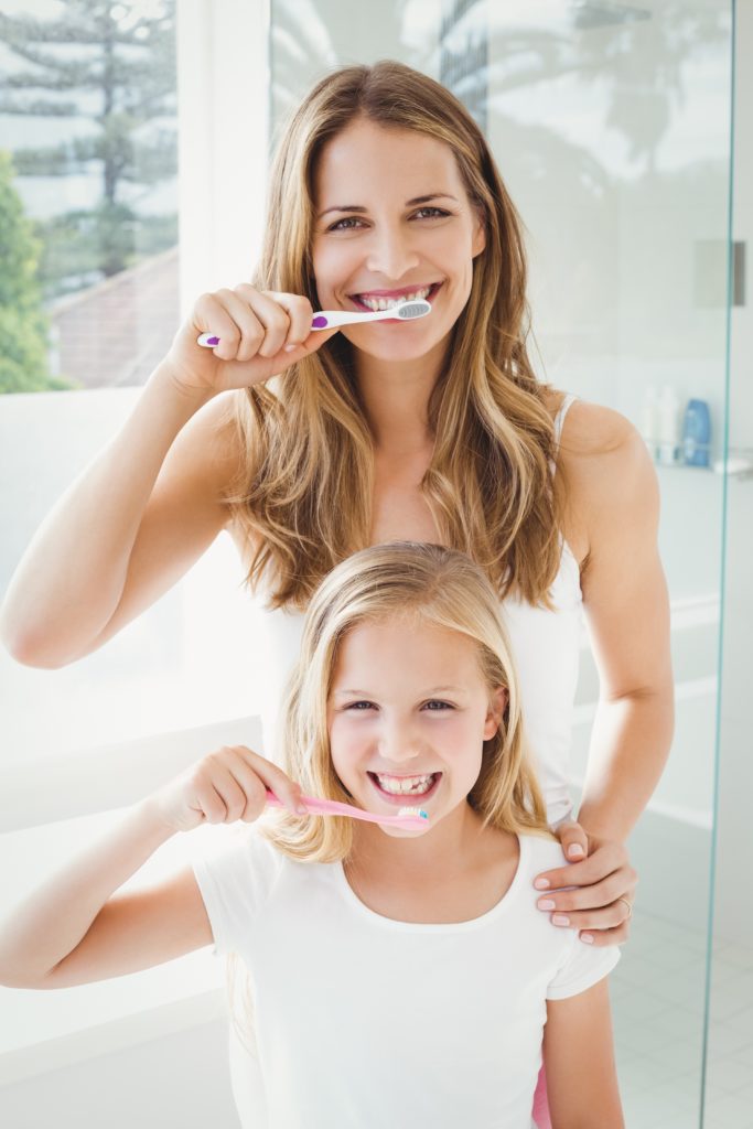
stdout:
<svg viewBox="0 0 753 1129">
<path fill-rule="evenodd" d="M 247 282 L 202 294 L 175 335 L 165 365 L 175 383 L 194 394 L 247 388 L 316 352 L 338 333 L 312 331 L 313 317 L 308 298 L 256 290 Z M 196 344 L 196 338 L 209 332 L 220 339 L 214 349 Z M 295 348 L 286 352 L 289 345 Z"/>
</svg>

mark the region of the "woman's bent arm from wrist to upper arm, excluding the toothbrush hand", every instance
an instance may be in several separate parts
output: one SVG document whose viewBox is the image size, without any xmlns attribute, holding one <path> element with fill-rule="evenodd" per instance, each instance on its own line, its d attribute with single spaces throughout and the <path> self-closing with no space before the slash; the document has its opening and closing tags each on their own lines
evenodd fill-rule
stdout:
<svg viewBox="0 0 753 1129">
<path fill-rule="evenodd" d="M 209 399 L 158 367 L 119 434 L 56 502 L 0 613 L 2 641 L 18 662 L 59 667 L 96 650 L 226 525 L 233 445 L 221 430 L 225 397 Z"/>
</svg>

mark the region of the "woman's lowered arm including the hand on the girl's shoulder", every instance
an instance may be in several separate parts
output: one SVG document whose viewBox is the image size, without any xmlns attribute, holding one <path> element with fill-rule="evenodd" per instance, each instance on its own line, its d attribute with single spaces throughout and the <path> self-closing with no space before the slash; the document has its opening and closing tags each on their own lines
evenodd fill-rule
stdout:
<svg viewBox="0 0 753 1129">
<path fill-rule="evenodd" d="M 642 438 L 607 408 L 573 404 L 562 457 L 570 527 L 586 546 L 581 588 L 599 701 L 578 822 L 558 830 L 566 854 L 580 842 L 588 858 L 537 877 L 552 890 L 583 886 L 548 896 L 569 928 L 593 929 L 595 944 L 611 945 L 628 937 L 618 899 L 632 902 L 637 881 L 624 840 L 664 771 L 674 728 L 659 496 Z"/>
</svg>

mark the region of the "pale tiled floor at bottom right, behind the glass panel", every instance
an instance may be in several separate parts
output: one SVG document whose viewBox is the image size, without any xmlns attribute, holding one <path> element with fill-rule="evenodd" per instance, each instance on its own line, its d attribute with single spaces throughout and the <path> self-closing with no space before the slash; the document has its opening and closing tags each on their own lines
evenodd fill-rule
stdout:
<svg viewBox="0 0 753 1129">
<path fill-rule="evenodd" d="M 713 953 L 704 1115 L 707 935 L 636 910 L 610 978 L 627 1129 L 753 1129 L 753 953 Z"/>
</svg>

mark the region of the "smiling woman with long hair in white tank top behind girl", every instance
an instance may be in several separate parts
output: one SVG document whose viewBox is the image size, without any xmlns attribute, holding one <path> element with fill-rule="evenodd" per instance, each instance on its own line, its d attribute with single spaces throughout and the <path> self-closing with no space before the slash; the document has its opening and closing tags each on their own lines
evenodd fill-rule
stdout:
<svg viewBox="0 0 753 1129">
<path fill-rule="evenodd" d="M 427 289 L 417 321 L 310 330 L 317 309 Z M 70 663 L 227 528 L 269 602 L 274 759 L 277 691 L 325 574 L 393 539 L 467 552 L 505 606 L 550 825 L 580 859 L 537 876 L 541 912 L 613 945 L 637 885 L 625 840 L 673 728 L 658 491 L 625 419 L 536 378 L 527 321 L 520 221 L 462 104 L 396 62 L 327 73 L 279 142 L 253 283 L 196 300 L 131 418 L 33 540 L 2 632 L 20 662 Z M 213 351 L 203 332 L 220 338 Z M 601 689 L 576 822 L 581 609 Z"/>
</svg>

